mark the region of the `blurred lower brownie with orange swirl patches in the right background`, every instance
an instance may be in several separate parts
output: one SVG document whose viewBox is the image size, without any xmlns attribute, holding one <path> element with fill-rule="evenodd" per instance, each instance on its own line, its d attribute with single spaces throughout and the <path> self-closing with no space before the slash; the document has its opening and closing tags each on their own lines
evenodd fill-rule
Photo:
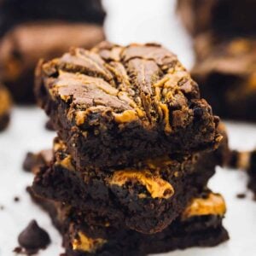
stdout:
<svg viewBox="0 0 256 256">
<path fill-rule="evenodd" d="M 198 61 L 192 77 L 201 96 L 224 119 L 255 121 L 256 39 L 226 38 L 216 43 L 211 34 L 195 39 Z"/>
</svg>

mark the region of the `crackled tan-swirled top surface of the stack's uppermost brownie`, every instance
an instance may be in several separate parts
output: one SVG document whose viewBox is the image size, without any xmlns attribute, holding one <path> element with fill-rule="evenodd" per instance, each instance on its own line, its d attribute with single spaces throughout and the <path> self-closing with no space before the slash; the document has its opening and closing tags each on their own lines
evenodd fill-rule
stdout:
<svg viewBox="0 0 256 256">
<path fill-rule="evenodd" d="M 85 129 L 137 122 L 170 134 L 192 122 L 190 105 L 200 97 L 176 55 L 159 44 L 71 49 L 37 73 L 52 99 L 67 104 L 68 119 Z"/>
</svg>

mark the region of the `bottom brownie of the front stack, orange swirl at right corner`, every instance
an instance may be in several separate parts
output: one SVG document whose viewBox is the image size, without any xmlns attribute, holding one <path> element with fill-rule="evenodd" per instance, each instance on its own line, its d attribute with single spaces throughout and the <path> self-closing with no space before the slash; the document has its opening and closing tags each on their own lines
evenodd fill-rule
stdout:
<svg viewBox="0 0 256 256">
<path fill-rule="evenodd" d="M 222 225 L 224 199 L 210 191 L 197 195 L 166 230 L 154 235 L 116 229 L 102 218 L 92 225 L 84 221 L 84 213 L 73 207 L 46 201 L 33 194 L 32 198 L 49 212 L 53 223 L 61 231 L 67 256 L 142 256 L 187 247 L 213 247 L 229 239 Z"/>
</svg>

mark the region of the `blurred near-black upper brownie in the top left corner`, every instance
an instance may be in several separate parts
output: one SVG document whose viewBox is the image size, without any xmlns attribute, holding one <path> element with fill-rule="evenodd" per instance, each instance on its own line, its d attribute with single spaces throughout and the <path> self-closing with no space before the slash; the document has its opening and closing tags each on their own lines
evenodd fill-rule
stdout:
<svg viewBox="0 0 256 256">
<path fill-rule="evenodd" d="M 0 36 L 20 23 L 35 20 L 86 21 L 102 24 L 101 0 L 2 0 Z"/>
</svg>

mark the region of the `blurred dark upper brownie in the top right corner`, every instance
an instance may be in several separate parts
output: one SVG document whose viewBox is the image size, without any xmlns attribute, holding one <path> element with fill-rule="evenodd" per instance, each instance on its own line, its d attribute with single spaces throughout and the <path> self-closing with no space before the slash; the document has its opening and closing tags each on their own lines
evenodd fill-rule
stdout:
<svg viewBox="0 0 256 256">
<path fill-rule="evenodd" d="M 212 31 L 215 34 L 254 35 L 254 0 L 178 0 L 177 13 L 193 36 Z"/>
</svg>

